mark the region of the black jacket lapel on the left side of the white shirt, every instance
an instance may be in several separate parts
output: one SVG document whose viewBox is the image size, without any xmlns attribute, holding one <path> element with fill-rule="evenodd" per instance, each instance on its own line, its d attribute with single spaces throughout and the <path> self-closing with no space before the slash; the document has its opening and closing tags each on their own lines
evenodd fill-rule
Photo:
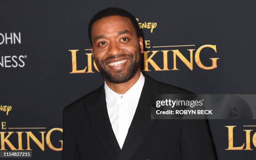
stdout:
<svg viewBox="0 0 256 160">
<path fill-rule="evenodd" d="M 120 147 L 108 117 L 104 85 L 99 88 L 99 92 L 97 92 L 94 97 L 90 104 L 86 104 L 92 128 L 110 158 L 117 160 Z"/>
</svg>

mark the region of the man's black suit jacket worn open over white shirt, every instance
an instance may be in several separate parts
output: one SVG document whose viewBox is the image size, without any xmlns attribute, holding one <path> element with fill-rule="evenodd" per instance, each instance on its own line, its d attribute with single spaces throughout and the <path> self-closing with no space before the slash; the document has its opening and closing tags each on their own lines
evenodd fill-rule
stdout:
<svg viewBox="0 0 256 160">
<path fill-rule="evenodd" d="M 214 160 L 205 120 L 151 120 L 150 94 L 191 93 L 146 74 L 122 150 L 115 138 L 104 85 L 63 110 L 62 160 Z"/>
</svg>

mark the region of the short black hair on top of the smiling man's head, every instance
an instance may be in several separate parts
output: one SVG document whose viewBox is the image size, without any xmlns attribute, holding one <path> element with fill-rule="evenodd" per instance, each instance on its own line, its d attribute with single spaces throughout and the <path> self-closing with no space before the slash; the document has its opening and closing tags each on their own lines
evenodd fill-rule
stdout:
<svg viewBox="0 0 256 160">
<path fill-rule="evenodd" d="M 134 30 L 136 31 L 137 37 L 141 37 L 141 30 L 139 29 L 138 22 L 137 22 L 136 18 L 131 13 L 129 13 L 128 11 L 123 10 L 121 8 L 109 7 L 109 8 L 106 8 L 106 9 L 101 10 L 100 12 L 96 13 L 90 20 L 90 23 L 88 25 L 88 36 L 89 36 L 91 45 L 92 45 L 92 35 L 91 34 L 92 34 L 93 23 L 95 23 L 97 20 L 100 20 L 101 18 L 108 17 L 111 15 L 119 15 L 119 16 L 129 18 L 131 20 L 131 23 L 133 24 Z"/>
</svg>

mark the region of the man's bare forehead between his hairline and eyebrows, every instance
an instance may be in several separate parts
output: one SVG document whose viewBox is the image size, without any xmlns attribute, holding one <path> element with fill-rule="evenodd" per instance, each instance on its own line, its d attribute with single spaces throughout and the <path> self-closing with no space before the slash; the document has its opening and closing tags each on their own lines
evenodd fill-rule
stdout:
<svg viewBox="0 0 256 160">
<path fill-rule="evenodd" d="M 118 31 L 128 30 L 135 33 L 131 20 L 129 18 L 112 15 L 97 20 L 92 25 L 92 37 L 97 35 L 111 34 Z"/>
</svg>

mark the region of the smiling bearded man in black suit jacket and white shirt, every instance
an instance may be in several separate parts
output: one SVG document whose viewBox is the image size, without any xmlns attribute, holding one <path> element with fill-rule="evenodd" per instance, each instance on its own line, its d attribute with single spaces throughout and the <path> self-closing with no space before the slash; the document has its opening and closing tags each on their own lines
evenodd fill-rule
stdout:
<svg viewBox="0 0 256 160">
<path fill-rule="evenodd" d="M 62 160 L 213 160 L 205 120 L 151 120 L 151 94 L 191 93 L 141 73 L 143 39 L 131 13 L 107 8 L 88 35 L 105 83 L 63 111 Z"/>
</svg>

